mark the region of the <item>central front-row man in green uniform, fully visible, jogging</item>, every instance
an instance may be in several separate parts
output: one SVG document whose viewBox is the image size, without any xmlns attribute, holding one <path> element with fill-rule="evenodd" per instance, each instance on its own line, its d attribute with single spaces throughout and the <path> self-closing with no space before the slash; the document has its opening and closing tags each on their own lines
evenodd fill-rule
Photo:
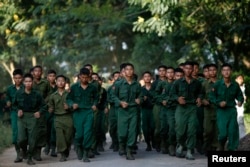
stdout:
<svg viewBox="0 0 250 167">
<path fill-rule="evenodd" d="M 134 80 L 134 66 L 126 63 L 124 79 L 115 83 L 113 99 L 118 107 L 118 139 L 119 155 L 125 154 L 127 147 L 127 160 L 134 160 L 132 149 L 136 142 L 138 105 L 140 104 L 141 87 Z"/>
</svg>

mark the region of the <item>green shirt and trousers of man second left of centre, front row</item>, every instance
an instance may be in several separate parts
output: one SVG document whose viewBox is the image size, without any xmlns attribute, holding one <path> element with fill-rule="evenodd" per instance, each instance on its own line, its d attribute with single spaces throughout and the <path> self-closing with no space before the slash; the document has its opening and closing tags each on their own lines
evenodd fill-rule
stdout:
<svg viewBox="0 0 250 167">
<path fill-rule="evenodd" d="M 78 104 L 78 108 L 73 112 L 73 122 L 75 127 L 75 146 L 77 149 L 88 151 L 92 145 L 93 119 L 92 106 L 97 106 L 99 93 L 95 86 L 88 84 L 86 89 L 81 87 L 81 83 L 71 86 L 67 96 L 67 104 L 72 108 L 73 104 Z"/>
</svg>

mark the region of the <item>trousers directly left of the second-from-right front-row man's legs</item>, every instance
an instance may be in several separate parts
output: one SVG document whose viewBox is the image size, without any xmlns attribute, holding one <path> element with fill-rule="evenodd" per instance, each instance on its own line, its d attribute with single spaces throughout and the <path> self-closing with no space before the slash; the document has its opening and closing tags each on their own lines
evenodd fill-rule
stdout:
<svg viewBox="0 0 250 167">
<path fill-rule="evenodd" d="M 167 149 L 168 147 L 168 117 L 167 117 L 167 108 L 161 107 L 160 111 L 160 136 L 161 136 L 161 148 Z"/>
</svg>

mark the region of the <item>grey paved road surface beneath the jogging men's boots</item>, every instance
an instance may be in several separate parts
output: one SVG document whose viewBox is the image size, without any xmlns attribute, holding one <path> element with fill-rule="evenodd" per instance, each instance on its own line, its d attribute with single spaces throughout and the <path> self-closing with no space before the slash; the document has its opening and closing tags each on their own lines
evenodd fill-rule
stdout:
<svg viewBox="0 0 250 167">
<path fill-rule="evenodd" d="M 42 154 L 43 161 L 36 162 L 38 167 L 206 167 L 207 158 L 203 155 L 195 153 L 195 160 L 190 161 L 186 159 L 180 159 L 171 157 L 169 155 L 163 155 L 156 151 L 146 152 L 144 151 L 146 145 L 144 142 L 139 143 L 139 150 L 135 155 L 134 161 L 126 160 L 125 156 L 119 156 L 117 152 L 109 150 L 110 141 L 105 146 L 105 152 L 96 158 L 91 159 L 90 163 L 84 163 L 79 161 L 76 157 L 74 150 L 70 152 L 68 161 L 59 162 L 60 155 L 57 158 L 50 157 Z M 27 167 L 26 160 L 22 163 L 13 163 L 15 159 L 14 148 L 7 149 L 0 155 L 0 167 Z"/>
</svg>

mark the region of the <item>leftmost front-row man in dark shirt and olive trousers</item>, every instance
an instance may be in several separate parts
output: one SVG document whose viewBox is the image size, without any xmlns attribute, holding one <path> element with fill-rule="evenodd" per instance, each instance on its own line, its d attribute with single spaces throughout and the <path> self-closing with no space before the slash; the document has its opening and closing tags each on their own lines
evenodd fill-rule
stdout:
<svg viewBox="0 0 250 167">
<path fill-rule="evenodd" d="M 37 131 L 40 128 L 37 124 L 46 111 L 46 104 L 41 94 L 32 88 L 32 75 L 25 74 L 23 78 L 24 89 L 16 92 L 14 100 L 18 115 L 18 143 L 21 148 L 29 145 L 27 164 L 34 165 L 32 156 L 37 142 Z"/>
</svg>

